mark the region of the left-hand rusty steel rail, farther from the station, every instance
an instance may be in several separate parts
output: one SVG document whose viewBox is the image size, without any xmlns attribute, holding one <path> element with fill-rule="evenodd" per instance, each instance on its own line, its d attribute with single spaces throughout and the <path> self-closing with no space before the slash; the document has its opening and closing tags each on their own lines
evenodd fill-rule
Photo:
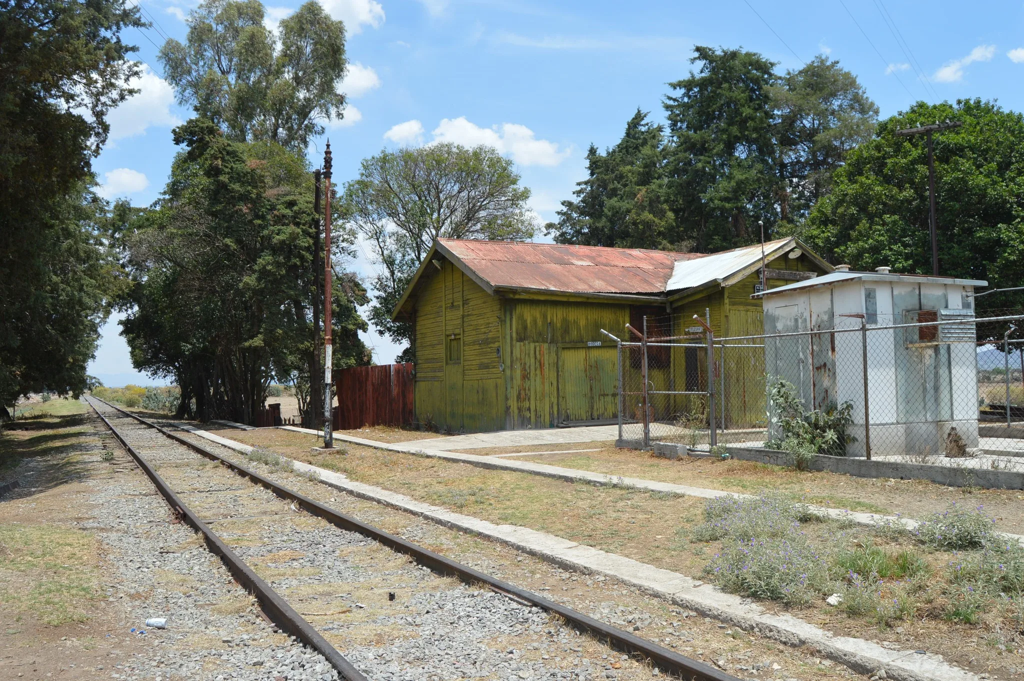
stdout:
<svg viewBox="0 0 1024 681">
<path fill-rule="evenodd" d="M 118 409 L 110 402 L 106 402 L 98 397 L 92 397 L 97 401 L 102 401 L 108 407 L 113 409 Z M 148 462 L 143 459 L 135 449 L 129 444 L 125 438 L 118 432 L 117 428 L 114 427 L 106 417 L 100 414 L 96 406 L 91 401 L 89 406 L 96 415 L 102 419 L 106 427 L 111 429 L 114 436 L 121 442 L 122 446 L 128 451 L 138 467 L 142 469 L 148 478 L 153 481 L 153 484 L 160 492 L 161 496 L 170 505 L 171 510 L 182 520 L 191 525 L 197 531 L 201 533 L 206 539 L 207 547 L 210 549 L 211 553 L 216 554 L 220 557 L 227 569 L 234 576 L 234 579 L 239 581 L 244 587 L 246 587 L 250 593 L 252 593 L 260 602 L 263 607 L 263 611 L 266 612 L 267 616 L 273 621 L 283 631 L 295 636 L 297 639 L 313 648 L 319 652 L 324 657 L 327 658 L 328 663 L 338 670 L 338 673 L 343 679 L 348 681 L 369 681 L 366 676 L 362 675 L 359 670 L 352 667 L 352 664 L 345 659 L 345 657 L 338 652 L 338 650 L 328 642 L 323 636 L 321 636 L 312 625 L 306 622 L 302 615 L 300 615 L 291 605 L 288 604 L 284 598 L 274 591 L 270 585 L 264 582 L 256 572 L 253 571 L 249 565 L 246 564 L 244 560 L 234 551 L 220 539 L 216 533 L 214 533 L 210 527 L 203 522 L 200 517 L 189 509 L 181 499 L 174 494 L 167 481 L 164 480 L 160 474 L 154 470 L 154 468 L 148 464 Z M 125 414 L 124 410 L 118 410 Z M 129 414 L 129 416 L 134 416 Z M 141 419 L 140 419 L 141 420 Z M 145 423 L 145 421 L 143 421 Z M 146 424 L 151 425 L 151 424 Z M 167 434 L 167 433 L 164 433 Z M 174 438 L 177 440 L 177 438 Z M 187 442 L 185 442 L 187 444 Z"/>
</svg>

